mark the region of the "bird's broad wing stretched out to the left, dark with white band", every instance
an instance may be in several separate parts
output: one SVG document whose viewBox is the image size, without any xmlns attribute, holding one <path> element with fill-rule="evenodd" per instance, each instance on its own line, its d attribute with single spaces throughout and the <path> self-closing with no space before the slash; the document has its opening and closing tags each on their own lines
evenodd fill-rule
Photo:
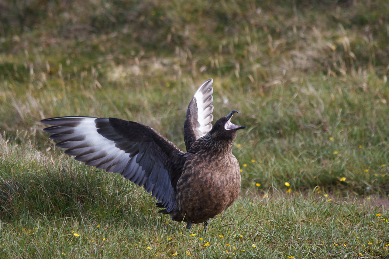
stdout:
<svg viewBox="0 0 389 259">
<path fill-rule="evenodd" d="M 59 140 L 57 147 L 86 165 L 120 173 L 152 193 L 168 212 L 175 207 L 175 186 L 185 162 L 184 152 L 154 129 L 115 118 L 57 117 L 44 131 Z"/>
</svg>

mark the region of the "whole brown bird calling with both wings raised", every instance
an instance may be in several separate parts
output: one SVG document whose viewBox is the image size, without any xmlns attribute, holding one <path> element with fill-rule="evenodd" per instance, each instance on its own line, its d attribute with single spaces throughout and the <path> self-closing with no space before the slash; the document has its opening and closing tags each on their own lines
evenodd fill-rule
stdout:
<svg viewBox="0 0 389 259">
<path fill-rule="evenodd" d="M 205 222 L 238 198 L 240 168 L 231 152 L 237 130 L 233 110 L 212 127 L 212 79 L 196 91 L 187 109 L 184 140 L 187 152 L 149 126 L 133 121 L 96 117 L 57 117 L 41 122 L 54 125 L 58 147 L 86 165 L 120 173 L 152 193 L 161 213 L 174 221 Z"/>
</svg>

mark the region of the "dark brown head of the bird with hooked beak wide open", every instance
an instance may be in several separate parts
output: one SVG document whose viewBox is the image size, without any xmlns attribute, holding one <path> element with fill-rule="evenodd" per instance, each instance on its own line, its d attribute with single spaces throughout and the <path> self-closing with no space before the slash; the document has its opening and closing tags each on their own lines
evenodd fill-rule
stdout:
<svg viewBox="0 0 389 259">
<path fill-rule="evenodd" d="M 218 140 L 234 140 L 235 137 L 237 137 L 237 130 L 246 128 L 245 126 L 239 126 L 231 123 L 232 115 L 235 112 L 237 111 L 233 110 L 227 116 L 218 119 L 209 131 L 209 134 Z"/>
</svg>

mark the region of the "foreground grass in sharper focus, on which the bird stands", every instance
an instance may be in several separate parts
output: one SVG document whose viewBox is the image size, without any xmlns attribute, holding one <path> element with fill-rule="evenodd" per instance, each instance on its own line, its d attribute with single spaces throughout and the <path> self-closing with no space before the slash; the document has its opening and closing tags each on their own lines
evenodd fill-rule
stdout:
<svg viewBox="0 0 389 259">
<path fill-rule="evenodd" d="M 80 167 L 63 155 L 55 163 L 42 160 L 37 152 L 14 147 L 2 163 L 5 257 L 388 255 L 388 200 L 379 194 L 316 187 L 272 189 L 265 196 L 251 185 L 203 233 L 202 224 L 187 231 L 184 223 L 157 214 L 150 195 L 118 175 Z"/>
</svg>

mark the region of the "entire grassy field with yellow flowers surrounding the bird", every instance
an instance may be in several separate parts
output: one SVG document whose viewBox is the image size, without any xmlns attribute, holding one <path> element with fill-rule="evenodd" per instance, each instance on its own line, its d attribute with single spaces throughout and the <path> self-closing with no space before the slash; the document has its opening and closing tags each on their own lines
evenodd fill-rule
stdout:
<svg viewBox="0 0 389 259">
<path fill-rule="evenodd" d="M 389 2 L 0 2 L 1 258 L 389 258 Z M 119 117 L 185 150 L 231 110 L 241 195 L 191 231 L 39 120 Z"/>
</svg>

